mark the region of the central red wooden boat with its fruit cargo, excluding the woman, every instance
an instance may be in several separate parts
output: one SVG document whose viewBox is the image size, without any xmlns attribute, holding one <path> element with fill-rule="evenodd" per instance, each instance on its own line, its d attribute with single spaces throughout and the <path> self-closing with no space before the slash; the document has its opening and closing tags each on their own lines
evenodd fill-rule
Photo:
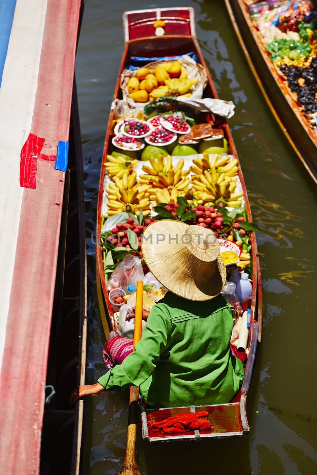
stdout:
<svg viewBox="0 0 317 475">
<path fill-rule="evenodd" d="M 96 272 L 106 338 L 109 327 L 112 334 L 120 334 L 118 312 L 124 300 L 133 305 L 133 289 L 125 284 L 134 282 L 118 280 L 125 270 L 125 277 L 132 275 L 122 263 L 134 259 L 135 274 L 139 260 L 137 278 L 143 275 L 145 285 L 151 283 L 140 254 L 144 228 L 158 218 L 210 228 L 220 240 L 221 253 L 226 253 L 228 279 L 234 266 L 251 275 L 251 294 L 241 305 L 236 302 L 238 309 L 232 305 L 237 321 L 250 309 L 244 383 L 227 404 L 202 408 L 188 401 L 185 408 L 149 409 L 140 401 L 143 437 L 149 442 L 243 437 L 249 431 L 246 397 L 262 309 L 256 226 L 225 120 L 234 106 L 218 100 L 195 37 L 192 8 L 125 12 L 124 29 L 125 50 L 106 132 L 97 208 Z M 129 133 L 134 141 L 127 140 Z M 151 289 L 145 299 L 153 302 L 149 294 Z M 213 430 L 163 434 L 147 424 L 202 410 L 208 412 Z"/>
</svg>

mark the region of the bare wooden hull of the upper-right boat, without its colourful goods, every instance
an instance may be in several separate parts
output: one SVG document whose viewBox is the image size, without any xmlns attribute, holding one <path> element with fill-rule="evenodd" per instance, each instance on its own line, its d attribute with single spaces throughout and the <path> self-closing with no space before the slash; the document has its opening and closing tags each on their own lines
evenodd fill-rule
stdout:
<svg viewBox="0 0 317 475">
<path fill-rule="evenodd" d="M 317 129 L 309 123 L 297 101 L 269 56 L 262 37 L 243 0 L 225 0 L 232 25 L 257 83 L 299 159 L 317 183 Z"/>
</svg>

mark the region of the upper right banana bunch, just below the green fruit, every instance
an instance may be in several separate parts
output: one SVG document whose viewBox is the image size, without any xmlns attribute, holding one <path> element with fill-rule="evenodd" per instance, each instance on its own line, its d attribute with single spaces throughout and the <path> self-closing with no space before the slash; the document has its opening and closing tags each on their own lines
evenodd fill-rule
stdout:
<svg viewBox="0 0 317 475">
<path fill-rule="evenodd" d="M 218 173 L 224 173 L 225 176 L 236 180 L 235 176 L 238 172 L 238 160 L 231 160 L 230 155 L 219 157 L 218 154 L 215 153 L 210 157 L 207 152 L 203 152 L 202 158 L 194 159 L 192 162 L 196 166 L 191 166 L 190 170 L 193 173 L 196 173 L 196 175 L 202 174 L 205 170 L 211 170 L 212 168 L 215 168 Z"/>
</svg>

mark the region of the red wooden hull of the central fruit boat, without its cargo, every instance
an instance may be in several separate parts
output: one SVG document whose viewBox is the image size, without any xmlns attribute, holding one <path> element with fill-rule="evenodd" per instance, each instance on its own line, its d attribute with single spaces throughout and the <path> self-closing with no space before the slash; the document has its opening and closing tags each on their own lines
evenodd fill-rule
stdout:
<svg viewBox="0 0 317 475">
<path fill-rule="evenodd" d="M 203 66 L 207 75 L 207 85 L 203 93 L 203 97 L 217 98 L 214 85 L 211 81 L 210 74 L 202 57 L 200 48 L 195 37 L 194 11 L 192 8 L 180 9 L 156 9 L 156 10 L 137 10 L 129 11 L 124 14 L 125 29 L 125 49 L 121 61 L 119 76 L 115 86 L 114 99 L 121 98 L 120 76 L 125 67 L 126 61 L 130 57 L 166 57 L 171 55 L 183 55 L 189 51 L 195 52 L 198 62 Z M 156 19 L 165 22 L 165 33 L 163 36 L 154 36 L 153 24 Z M 114 113 L 110 112 L 108 128 L 106 132 L 105 147 L 103 153 L 103 164 L 101 167 L 101 175 L 99 182 L 99 196 L 97 207 L 97 237 L 100 237 L 101 227 L 104 218 L 102 217 L 102 202 L 104 194 L 104 182 L 106 171 L 104 162 L 106 156 L 112 151 L 111 139 L 113 135 Z M 221 127 L 225 138 L 228 141 L 229 153 L 238 160 L 238 155 L 231 137 L 230 129 L 226 121 L 217 116 L 216 122 Z M 146 162 L 145 162 L 146 163 Z M 251 221 L 250 205 L 247 197 L 246 187 L 243 180 L 242 171 L 239 164 L 239 179 L 241 182 L 245 208 L 249 221 Z M 98 239 L 99 240 L 99 239 Z M 252 274 L 253 274 L 253 291 L 252 296 L 244 302 L 244 309 L 251 309 L 251 331 L 249 335 L 249 358 L 246 366 L 245 379 L 241 390 L 229 404 L 208 405 L 205 407 L 195 407 L 192 401 L 188 401 L 185 408 L 168 408 L 168 409 L 146 409 L 140 401 L 141 420 L 143 437 L 149 442 L 167 442 L 170 440 L 197 440 L 199 438 L 226 438 L 226 437 L 243 437 L 249 429 L 246 417 L 246 399 L 249 390 L 252 368 L 256 355 L 257 343 L 261 336 L 262 321 L 262 294 L 261 279 L 259 268 L 259 257 L 254 232 L 250 232 L 251 252 L 252 252 Z M 101 314 L 105 329 L 106 338 L 108 338 L 109 327 L 115 330 L 116 323 L 113 310 L 107 293 L 106 279 L 104 274 L 102 245 L 96 245 L 96 273 L 98 286 L 98 300 L 101 306 Z M 100 283 L 99 283 L 100 279 Z M 106 318 L 107 317 L 107 318 Z M 160 421 L 171 415 L 188 412 L 207 410 L 210 414 L 210 420 L 214 425 L 213 432 L 208 431 L 192 431 L 184 435 L 162 434 L 160 432 L 152 432 L 147 426 L 147 421 Z"/>
</svg>

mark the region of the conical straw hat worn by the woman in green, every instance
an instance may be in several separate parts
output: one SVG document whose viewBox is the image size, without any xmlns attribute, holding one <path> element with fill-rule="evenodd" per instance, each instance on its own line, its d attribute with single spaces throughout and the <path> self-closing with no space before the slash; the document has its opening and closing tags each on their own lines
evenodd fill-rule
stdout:
<svg viewBox="0 0 317 475">
<path fill-rule="evenodd" d="M 226 268 L 211 229 L 161 219 L 145 228 L 141 247 L 152 274 L 173 294 L 197 301 L 220 294 Z"/>
</svg>

